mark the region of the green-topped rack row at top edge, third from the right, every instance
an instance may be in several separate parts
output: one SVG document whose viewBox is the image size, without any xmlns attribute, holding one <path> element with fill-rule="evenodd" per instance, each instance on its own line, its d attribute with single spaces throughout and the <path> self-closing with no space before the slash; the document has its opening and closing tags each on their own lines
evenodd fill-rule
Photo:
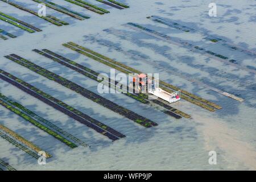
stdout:
<svg viewBox="0 0 256 182">
<path fill-rule="evenodd" d="M 88 19 L 90 18 L 89 16 L 85 16 L 85 15 L 82 15 L 82 14 L 79 14 L 75 11 L 71 11 L 63 6 L 60 6 L 60 5 L 57 5 L 53 2 L 50 2 L 50 1 L 47 1 L 47 0 L 32 0 L 32 1 L 35 1 L 35 2 L 38 2 L 38 3 L 43 3 L 45 2 L 45 5 L 53 10 L 56 10 L 56 11 L 59 11 L 61 13 L 64 13 L 64 14 L 67 14 L 73 18 L 76 18 L 76 19 L 79 19 L 79 20 L 84 20 L 84 19 Z"/>
</svg>

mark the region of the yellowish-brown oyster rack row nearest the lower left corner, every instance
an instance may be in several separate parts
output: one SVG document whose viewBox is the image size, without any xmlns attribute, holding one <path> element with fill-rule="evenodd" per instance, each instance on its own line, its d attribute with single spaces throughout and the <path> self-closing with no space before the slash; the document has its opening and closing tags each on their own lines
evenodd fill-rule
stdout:
<svg viewBox="0 0 256 182">
<path fill-rule="evenodd" d="M 28 141 L 27 139 L 21 137 L 19 134 L 15 133 L 14 131 L 10 130 L 9 128 L 0 125 L 0 129 L 5 131 L 5 133 L 11 135 L 11 137 L 19 140 L 20 142 L 22 142 L 23 144 L 25 144 L 27 147 L 31 148 L 32 150 L 39 152 L 39 151 L 43 151 L 41 148 L 39 148 L 38 146 L 36 146 L 34 143 L 31 143 L 30 141 Z M 46 158 L 51 158 L 52 155 L 48 154 L 48 152 L 46 152 Z"/>
</svg>

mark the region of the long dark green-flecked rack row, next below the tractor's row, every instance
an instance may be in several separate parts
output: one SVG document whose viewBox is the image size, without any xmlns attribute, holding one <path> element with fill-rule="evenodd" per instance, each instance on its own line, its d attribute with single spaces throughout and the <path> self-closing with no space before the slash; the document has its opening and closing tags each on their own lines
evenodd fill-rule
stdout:
<svg viewBox="0 0 256 182">
<path fill-rule="evenodd" d="M 82 96 L 88 98 L 89 100 L 92 100 L 92 101 L 96 102 L 97 104 L 102 105 L 102 106 L 114 111 L 115 113 L 123 115 L 126 118 L 131 119 L 131 121 L 139 123 L 140 125 L 142 125 L 144 127 L 158 126 L 157 123 L 151 121 L 150 119 L 142 117 L 141 115 L 134 113 L 133 111 L 126 109 L 123 106 L 119 106 L 119 105 L 115 104 L 114 102 L 107 100 L 106 98 L 99 96 L 98 94 L 91 92 L 90 90 L 85 89 L 78 84 L 75 84 L 75 82 L 69 81 L 69 80 L 65 79 L 64 77 L 56 75 L 53 72 L 49 72 L 47 69 L 39 67 L 38 65 L 32 63 L 31 61 L 23 59 L 20 56 L 12 54 L 10 56 L 5 56 L 5 57 L 14 61 L 15 63 L 23 65 L 24 67 L 30 69 L 31 71 L 38 73 L 39 75 L 42 75 L 42 76 L 48 78 L 49 80 L 58 82 L 59 84 L 75 91 L 76 93 L 81 94 Z M 15 57 L 15 58 L 13 58 L 13 57 Z"/>
</svg>

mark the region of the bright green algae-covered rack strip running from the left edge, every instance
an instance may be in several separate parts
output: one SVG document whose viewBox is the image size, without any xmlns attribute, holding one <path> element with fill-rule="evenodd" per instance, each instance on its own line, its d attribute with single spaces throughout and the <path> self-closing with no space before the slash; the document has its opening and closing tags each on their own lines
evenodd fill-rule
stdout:
<svg viewBox="0 0 256 182">
<path fill-rule="evenodd" d="M 38 121 L 35 121 L 35 119 L 32 119 L 27 114 L 24 114 L 21 111 L 19 111 L 18 109 L 15 109 L 13 106 L 7 104 L 6 102 L 3 102 L 3 101 L 0 100 L 0 104 L 2 106 L 6 107 L 7 109 L 9 109 L 10 111 L 12 111 L 13 113 L 15 113 L 15 114 L 19 115 L 20 117 L 26 119 L 26 121 L 30 122 L 32 125 L 35 125 L 39 129 L 48 133 L 49 135 L 52 135 L 52 137 L 55 137 L 56 139 L 60 140 L 61 142 L 67 144 L 67 146 L 69 146 L 71 148 L 76 148 L 77 147 L 77 145 L 75 143 L 72 143 L 69 140 L 65 139 L 64 137 L 61 137 L 59 134 L 55 133 L 54 131 L 52 131 L 48 127 L 42 125 Z"/>
</svg>

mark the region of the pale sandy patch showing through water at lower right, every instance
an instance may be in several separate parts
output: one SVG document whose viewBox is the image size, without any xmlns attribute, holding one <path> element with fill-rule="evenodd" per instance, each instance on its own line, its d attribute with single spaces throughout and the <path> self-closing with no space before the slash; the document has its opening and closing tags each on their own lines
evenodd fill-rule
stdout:
<svg viewBox="0 0 256 182">
<path fill-rule="evenodd" d="M 242 141 L 242 134 L 236 129 L 230 129 L 224 121 L 192 114 L 193 119 L 200 124 L 197 129 L 203 133 L 205 150 L 212 151 L 220 148 L 225 152 L 226 160 L 242 162 L 251 170 L 256 169 L 256 151 L 250 143 Z"/>
</svg>

